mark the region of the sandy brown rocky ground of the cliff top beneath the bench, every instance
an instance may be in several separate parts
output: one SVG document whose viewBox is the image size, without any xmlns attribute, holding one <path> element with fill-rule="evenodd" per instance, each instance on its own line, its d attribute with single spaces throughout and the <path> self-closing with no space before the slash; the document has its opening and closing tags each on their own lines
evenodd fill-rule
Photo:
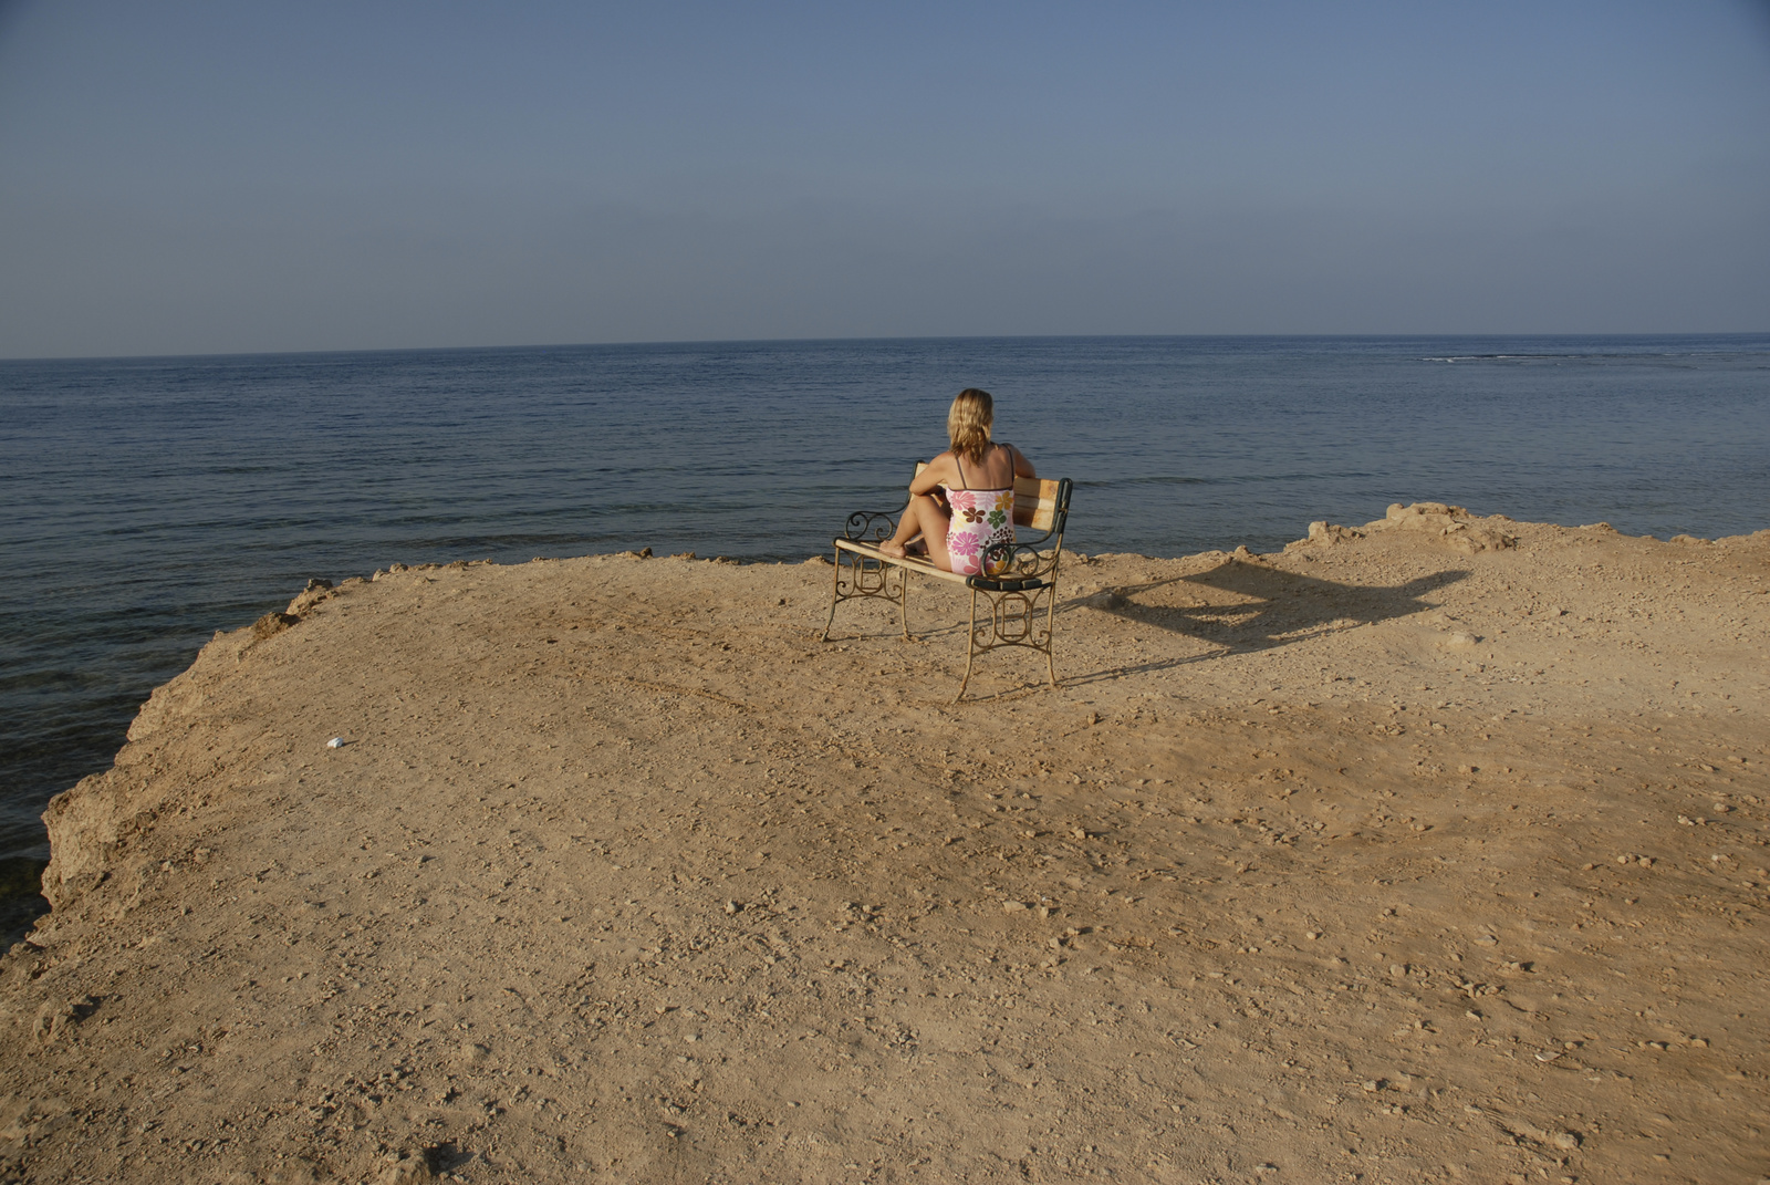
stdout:
<svg viewBox="0 0 1770 1185">
<path fill-rule="evenodd" d="M 0 1180 L 1759 1181 L 1766 577 L 1094 556 L 963 705 L 823 562 L 304 595 L 51 804 Z"/>
</svg>

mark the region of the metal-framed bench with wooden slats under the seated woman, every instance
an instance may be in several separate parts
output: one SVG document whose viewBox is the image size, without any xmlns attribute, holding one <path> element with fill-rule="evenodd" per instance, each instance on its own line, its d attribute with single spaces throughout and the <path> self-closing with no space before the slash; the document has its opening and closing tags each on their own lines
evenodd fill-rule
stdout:
<svg viewBox="0 0 1770 1185">
<path fill-rule="evenodd" d="M 917 464 L 917 473 L 922 466 Z M 835 625 L 835 606 L 844 600 L 878 599 L 897 606 L 904 639 L 910 638 L 910 574 L 920 572 L 938 581 L 972 590 L 972 622 L 966 632 L 965 678 L 959 694 L 972 682 L 972 664 L 979 654 L 998 647 L 1027 647 L 1044 654 L 1044 670 L 1057 685 L 1057 661 L 1051 657 L 1051 625 L 1057 615 L 1057 569 L 1064 556 L 1064 526 L 1069 523 L 1069 478 L 1057 482 L 1014 478 L 1012 544 L 997 544 L 984 554 L 984 574 L 943 572 L 924 556 L 897 560 L 880 553 L 880 544 L 897 530 L 894 512 L 857 510 L 835 537 L 835 583 L 830 590 L 830 618 L 823 623 L 823 641 Z M 1023 538 L 1023 531 L 1043 531 Z M 989 615 L 977 618 L 977 599 L 988 602 Z M 1043 615 L 1043 622 L 1039 620 Z"/>
</svg>

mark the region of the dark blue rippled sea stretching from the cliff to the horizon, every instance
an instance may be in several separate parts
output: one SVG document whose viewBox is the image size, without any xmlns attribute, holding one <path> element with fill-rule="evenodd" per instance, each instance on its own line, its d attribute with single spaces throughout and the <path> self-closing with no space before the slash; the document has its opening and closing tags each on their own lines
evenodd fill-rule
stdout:
<svg viewBox="0 0 1770 1185">
<path fill-rule="evenodd" d="M 804 560 L 850 510 L 897 507 L 966 386 L 995 395 L 997 439 L 1074 480 L 1083 553 L 1267 551 L 1420 500 L 1630 535 L 1770 526 L 1770 335 L 0 361 L 0 896 L 41 907 L 50 795 L 103 771 L 214 631 L 310 577 Z"/>
</svg>

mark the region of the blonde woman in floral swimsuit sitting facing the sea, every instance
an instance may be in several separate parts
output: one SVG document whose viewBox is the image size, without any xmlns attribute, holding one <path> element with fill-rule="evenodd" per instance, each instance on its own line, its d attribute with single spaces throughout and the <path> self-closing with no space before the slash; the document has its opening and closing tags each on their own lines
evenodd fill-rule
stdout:
<svg viewBox="0 0 1770 1185">
<path fill-rule="evenodd" d="M 880 553 L 901 560 L 920 535 L 935 567 L 977 576 L 991 546 L 1014 540 L 1014 478 L 1037 473 L 1018 448 L 989 441 L 993 420 L 989 391 L 959 391 L 947 413 L 952 448 L 910 482 L 910 505 Z"/>
</svg>

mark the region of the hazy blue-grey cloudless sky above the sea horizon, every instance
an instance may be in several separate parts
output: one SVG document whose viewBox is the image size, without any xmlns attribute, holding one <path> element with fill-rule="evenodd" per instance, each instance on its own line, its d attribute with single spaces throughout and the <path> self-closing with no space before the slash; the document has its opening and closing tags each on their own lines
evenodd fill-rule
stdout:
<svg viewBox="0 0 1770 1185">
<path fill-rule="evenodd" d="M 0 0 L 0 356 L 1770 331 L 1770 0 Z"/>
</svg>

